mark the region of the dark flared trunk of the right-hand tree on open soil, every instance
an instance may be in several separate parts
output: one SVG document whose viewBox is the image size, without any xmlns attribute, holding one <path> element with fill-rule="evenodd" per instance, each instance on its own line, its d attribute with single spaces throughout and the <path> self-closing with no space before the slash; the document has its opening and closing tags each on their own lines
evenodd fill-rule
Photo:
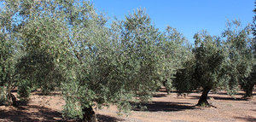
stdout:
<svg viewBox="0 0 256 122">
<path fill-rule="evenodd" d="M 201 106 L 201 107 L 203 107 L 203 106 L 209 107 L 210 106 L 209 102 L 207 101 L 208 93 L 210 90 L 211 90 L 211 88 L 209 88 L 209 87 L 205 87 L 203 89 L 203 92 L 202 92 L 200 99 L 199 99 L 198 103 L 196 104 L 196 106 Z"/>
</svg>

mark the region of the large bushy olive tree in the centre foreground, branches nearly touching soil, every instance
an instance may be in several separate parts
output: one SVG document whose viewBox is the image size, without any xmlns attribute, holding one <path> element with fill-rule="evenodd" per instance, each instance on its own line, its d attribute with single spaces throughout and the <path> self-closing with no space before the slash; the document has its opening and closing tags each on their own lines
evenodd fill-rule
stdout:
<svg viewBox="0 0 256 122">
<path fill-rule="evenodd" d="M 86 12 L 81 15 L 89 19 L 73 17 L 72 36 L 67 36 L 75 65 L 70 82 L 63 84 L 64 115 L 96 121 L 93 107 L 111 103 L 125 112 L 131 102 L 147 101 L 159 84 L 160 38 L 148 15 L 138 9 L 125 20 L 113 21 L 109 29 L 90 3 L 75 11 Z"/>
</svg>

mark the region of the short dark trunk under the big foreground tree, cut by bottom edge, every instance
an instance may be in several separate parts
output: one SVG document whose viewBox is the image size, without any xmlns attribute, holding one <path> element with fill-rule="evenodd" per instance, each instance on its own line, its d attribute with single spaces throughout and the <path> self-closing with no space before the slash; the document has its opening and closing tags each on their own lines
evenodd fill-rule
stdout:
<svg viewBox="0 0 256 122">
<path fill-rule="evenodd" d="M 83 122 L 97 122 L 98 120 L 96 119 L 96 114 L 93 111 L 92 107 L 84 107 L 83 109 L 84 112 L 84 118 Z"/>
</svg>

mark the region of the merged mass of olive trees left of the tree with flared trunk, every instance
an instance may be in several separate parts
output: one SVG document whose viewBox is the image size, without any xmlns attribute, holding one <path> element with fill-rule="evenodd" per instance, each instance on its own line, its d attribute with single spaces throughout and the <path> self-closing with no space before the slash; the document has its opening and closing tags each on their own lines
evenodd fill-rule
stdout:
<svg viewBox="0 0 256 122">
<path fill-rule="evenodd" d="M 96 121 L 93 107 L 126 112 L 148 101 L 189 53 L 180 33 L 160 32 L 142 9 L 111 27 L 86 1 L 6 0 L 0 12 L 1 102 L 16 105 L 15 88 L 26 100 L 61 86 L 67 118 Z"/>
</svg>

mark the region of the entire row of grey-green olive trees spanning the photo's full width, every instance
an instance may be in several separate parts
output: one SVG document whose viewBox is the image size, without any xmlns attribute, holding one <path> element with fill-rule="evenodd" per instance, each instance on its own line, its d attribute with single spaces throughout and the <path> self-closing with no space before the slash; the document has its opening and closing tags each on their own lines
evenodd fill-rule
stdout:
<svg viewBox="0 0 256 122">
<path fill-rule="evenodd" d="M 229 26 L 222 37 L 195 34 L 195 47 L 172 27 L 160 32 L 142 9 L 113 20 L 75 0 L 5 0 L 0 9 L 1 102 L 17 104 L 32 90 L 62 90 L 66 118 L 96 121 L 93 108 L 114 104 L 127 113 L 165 84 L 179 92 L 252 81 L 250 28 Z M 233 29 L 233 30 L 232 30 Z M 254 44 L 255 46 L 255 44 Z M 61 87 L 60 87 L 61 86 Z"/>
</svg>

